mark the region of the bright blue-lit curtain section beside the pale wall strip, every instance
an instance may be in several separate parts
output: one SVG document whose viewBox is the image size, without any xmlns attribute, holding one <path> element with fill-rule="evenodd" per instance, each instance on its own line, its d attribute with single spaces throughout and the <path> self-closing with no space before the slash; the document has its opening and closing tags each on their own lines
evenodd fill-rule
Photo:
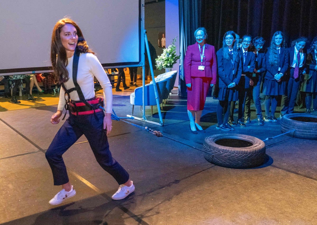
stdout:
<svg viewBox="0 0 317 225">
<path fill-rule="evenodd" d="M 195 43 L 194 31 L 200 27 L 201 1 L 179 0 L 179 37 L 180 37 L 180 60 L 178 95 L 187 96 L 184 79 L 183 62 L 187 46 Z"/>
</svg>

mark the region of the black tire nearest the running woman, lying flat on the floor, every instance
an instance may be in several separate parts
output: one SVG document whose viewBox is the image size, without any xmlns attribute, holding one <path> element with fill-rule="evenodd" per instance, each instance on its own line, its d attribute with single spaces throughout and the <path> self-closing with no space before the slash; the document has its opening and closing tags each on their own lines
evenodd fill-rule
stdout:
<svg viewBox="0 0 317 225">
<path fill-rule="evenodd" d="M 247 141 L 248 147 L 227 147 L 216 144 L 222 139 L 237 139 Z M 261 166 L 266 160 L 265 143 L 249 135 L 243 134 L 215 134 L 206 137 L 203 149 L 205 159 L 213 164 L 229 168 L 252 168 Z"/>
</svg>

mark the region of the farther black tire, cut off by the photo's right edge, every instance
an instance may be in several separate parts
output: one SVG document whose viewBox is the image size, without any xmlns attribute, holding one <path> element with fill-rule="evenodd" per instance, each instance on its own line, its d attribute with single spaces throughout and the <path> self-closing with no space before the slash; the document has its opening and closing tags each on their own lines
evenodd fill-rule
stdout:
<svg viewBox="0 0 317 225">
<path fill-rule="evenodd" d="M 307 120 L 315 122 L 303 122 L 293 119 L 299 117 L 303 119 L 307 118 Z M 317 116 L 309 113 L 292 113 L 284 115 L 281 119 L 282 133 L 292 130 L 295 131 L 287 133 L 286 135 L 302 139 L 317 140 Z"/>
</svg>

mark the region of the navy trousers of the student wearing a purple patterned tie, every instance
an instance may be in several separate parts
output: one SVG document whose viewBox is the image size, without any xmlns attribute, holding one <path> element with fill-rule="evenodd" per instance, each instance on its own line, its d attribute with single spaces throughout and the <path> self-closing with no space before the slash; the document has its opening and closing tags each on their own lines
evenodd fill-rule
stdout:
<svg viewBox="0 0 317 225">
<path fill-rule="evenodd" d="M 299 69 L 299 76 L 294 79 L 294 68 L 291 68 L 290 71 L 290 77 L 288 80 L 288 84 L 287 84 L 287 90 L 285 95 L 282 96 L 282 101 L 281 101 L 281 114 L 288 114 L 288 113 L 293 113 L 294 111 L 294 106 L 295 106 L 295 100 L 297 97 L 297 93 L 299 90 L 299 86 L 300 86 L 300 78 L 301 78 L 301 74 L 303 72 L 303 69 L 300 68 Z"/>
</svg>

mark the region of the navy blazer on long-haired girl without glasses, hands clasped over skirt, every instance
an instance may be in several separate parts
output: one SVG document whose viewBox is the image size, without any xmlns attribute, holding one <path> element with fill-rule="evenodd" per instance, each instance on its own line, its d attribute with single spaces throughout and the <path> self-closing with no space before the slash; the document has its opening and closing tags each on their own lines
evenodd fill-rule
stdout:
<svg viewBox="0 0 317 225">
<path fill-rule="evenodd" d="M 280 50 L 280 64 L 278 66 L 271 65 L 269 63 L 269 54 L 270 54 L 270 48 L 267 49 L 267 52 L 265 54 L 265 60 L 266 60 L 266 74 L 264 76 L 264 79 L 272 80 L 274 81 L 275 74 L 278 73 L 278 68 L 281 67 L 280 73 L 285 75 L 286 70 L 288 69 L 288 54 L 287 49 L 284 47 L 281 47 Z"/>
</svg>

